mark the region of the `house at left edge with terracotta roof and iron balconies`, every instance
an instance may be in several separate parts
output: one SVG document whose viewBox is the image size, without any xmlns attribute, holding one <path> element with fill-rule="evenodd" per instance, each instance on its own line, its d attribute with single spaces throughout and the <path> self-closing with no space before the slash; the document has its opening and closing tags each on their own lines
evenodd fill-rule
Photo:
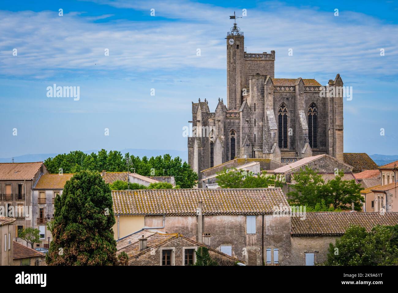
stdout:
<svg viewBox="0 0 398 293">
<path fill-rule="evenodd" d="M 0 216 L 15 218 L 14 235 L 25 227 L 33 227 L 33 187 L 47 174 L 43 162 L 0 163 Z M 27 245 L 20 238 L 18 242 Z"/>
</svg>

